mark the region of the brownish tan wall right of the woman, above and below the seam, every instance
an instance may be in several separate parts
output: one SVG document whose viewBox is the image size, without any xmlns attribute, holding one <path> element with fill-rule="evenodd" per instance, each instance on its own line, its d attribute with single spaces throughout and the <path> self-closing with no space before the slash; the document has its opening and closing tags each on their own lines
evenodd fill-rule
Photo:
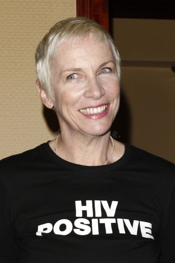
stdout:
<svg viewBox="0 0 175 263">
<path fill-rule="evenodd" d="M 175 20 L 113 19 L 113 36 L 124 60 L 121 88 L 131 125 L 130 143 L 172 162 L 175 162 L 175 73 L 171 70 L 171 65 L 175 65 L 174 29 Z"/>
</svg>

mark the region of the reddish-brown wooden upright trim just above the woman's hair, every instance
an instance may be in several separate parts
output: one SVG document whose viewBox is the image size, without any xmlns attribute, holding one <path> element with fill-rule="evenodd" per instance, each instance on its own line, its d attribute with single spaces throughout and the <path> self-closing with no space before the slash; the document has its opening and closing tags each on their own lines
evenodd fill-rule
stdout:
<svg viewBox="0 0 175 263">
<path fill-rule="evenodd" d="M 109 30 L 108 0 L 76 0 L 77 16 L 86 16 Z"/>
</svg>

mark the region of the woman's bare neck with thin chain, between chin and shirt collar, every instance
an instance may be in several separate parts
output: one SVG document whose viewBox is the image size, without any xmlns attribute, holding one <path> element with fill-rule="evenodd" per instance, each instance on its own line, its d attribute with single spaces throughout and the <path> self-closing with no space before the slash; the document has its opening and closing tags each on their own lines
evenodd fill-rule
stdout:
<svg viewBox="0 0 175 263">
<path fill-rule="evenodd" d="M 110 163 L 113 141 L 110 139 L 109 132 L 102 136 L 77 137 L 57 137 L 55 143 L 57 155 L 80 165 L 94 166 Z"/>
</svg>

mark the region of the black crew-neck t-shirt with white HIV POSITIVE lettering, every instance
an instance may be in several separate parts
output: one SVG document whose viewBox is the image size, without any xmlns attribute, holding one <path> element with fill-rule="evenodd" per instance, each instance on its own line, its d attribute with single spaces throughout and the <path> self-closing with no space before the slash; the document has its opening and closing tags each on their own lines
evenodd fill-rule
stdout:
<svg viewBox="0 0 175 263">
<path fill-rule="evenodd" d="M 44 143 L 0 162 L 1 263 L 174 263 L 174 165 L 125 145 L 105 166 Z"/>
</svg>

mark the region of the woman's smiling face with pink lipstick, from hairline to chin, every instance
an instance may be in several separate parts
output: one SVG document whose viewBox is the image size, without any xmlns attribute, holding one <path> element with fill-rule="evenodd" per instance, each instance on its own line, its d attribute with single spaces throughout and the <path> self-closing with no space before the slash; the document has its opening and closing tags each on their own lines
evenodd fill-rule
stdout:
<svg viewBox="0 0 175 263">
<path fill-rule="evenodd" d="M 106 41 L 90 35 L 62 44 L 51 81 L 62 132 L 95 135 L 110 129 L 119 108 L 120 84 Z"/>
</svg>

